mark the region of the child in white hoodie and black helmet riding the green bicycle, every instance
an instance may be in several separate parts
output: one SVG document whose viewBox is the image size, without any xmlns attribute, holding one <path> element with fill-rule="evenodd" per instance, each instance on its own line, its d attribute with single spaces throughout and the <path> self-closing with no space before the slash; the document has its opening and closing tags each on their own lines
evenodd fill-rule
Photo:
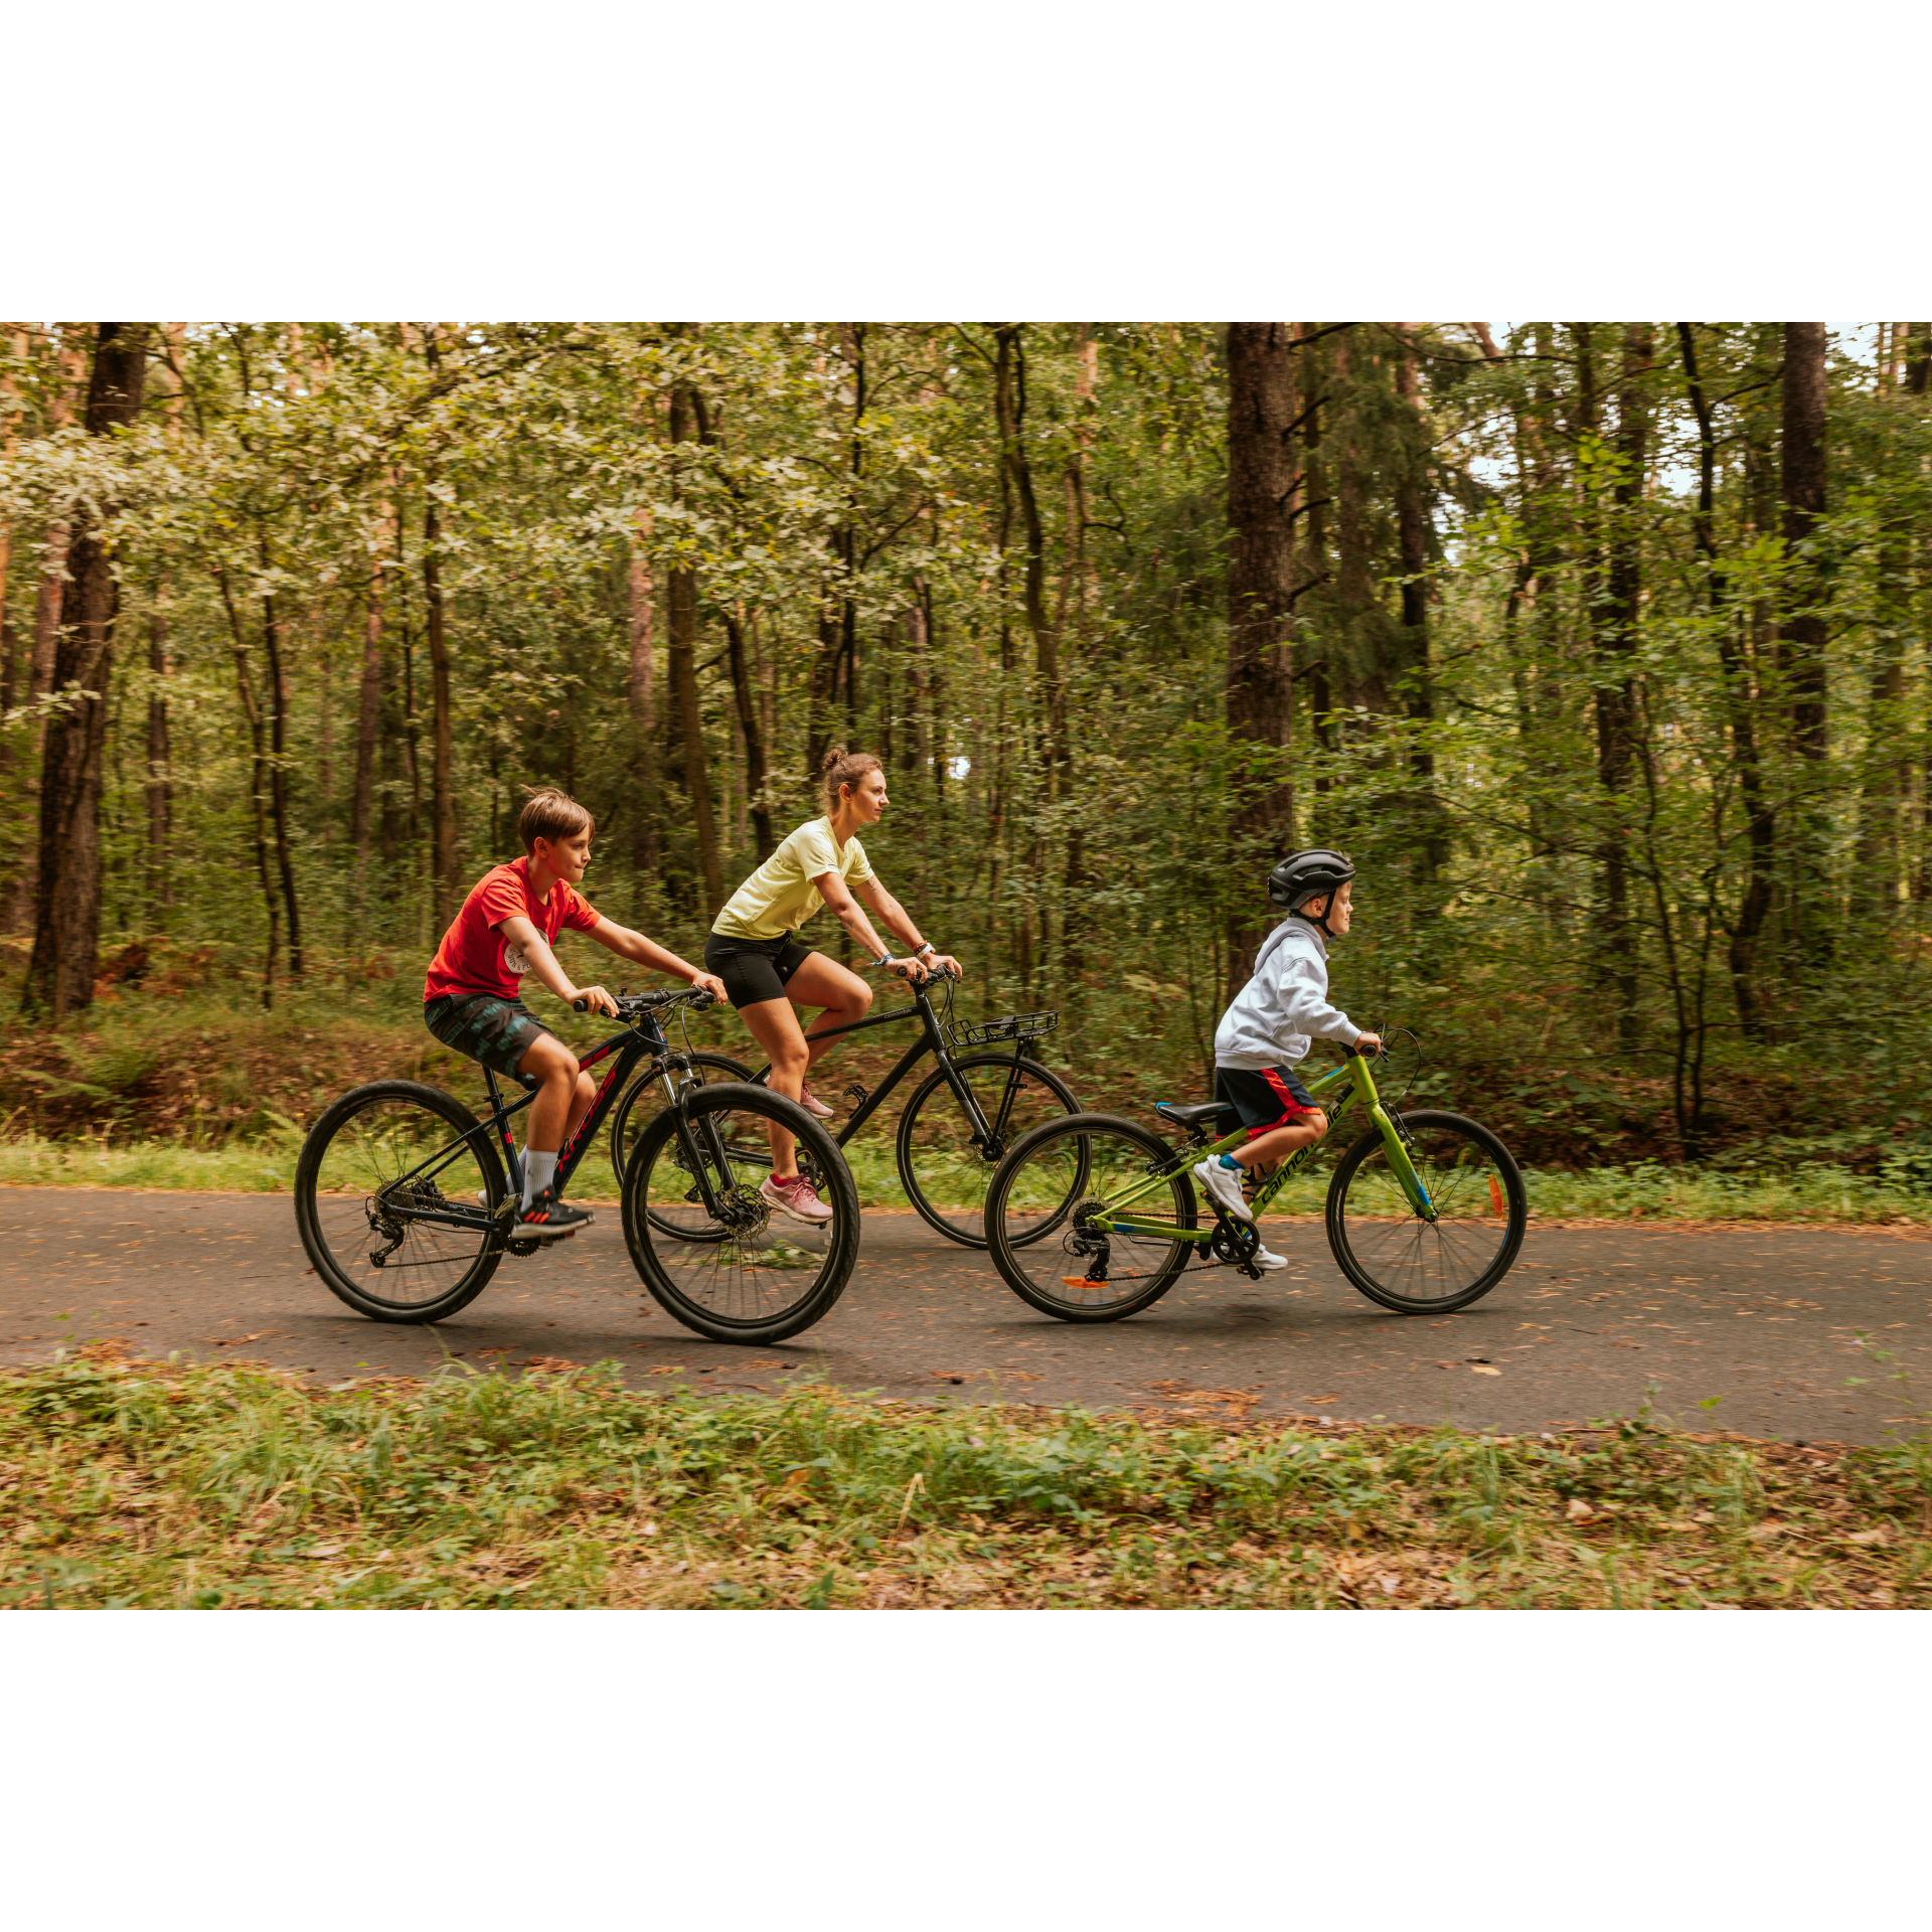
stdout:
<svg viewBox="0 0 1932 1932">
<path fill-rule="evenodd" d="M 1327 1132 L 1327 1115 L 1294 1074 L 1316 1039 L 1337 1039 L 1356 1053 L 1379 1053 L 1381 1037 L 1366 1034 L 1327 999 L 1327 943 L 1352 920 L 1354 866 L 1345 852 L 1293 852 L 1267 875 L 1267 896 L 1289 916 L 1267 935 L 1254 976 L 1221 1014 L 1213 1036 L 1213 1092 L 1221 1119 L 1229 1113 L 1248 1128 L 1236 1153 L 1209 1155 L 1194 1179 L 1231 1215 L 1252 1221 L 1240 1194 L 1244 1171 L 1269 1173 Z M 1287 1267 L 1287 1258 L 1262 1248 L 1256 1267 Z"/>
</svg>

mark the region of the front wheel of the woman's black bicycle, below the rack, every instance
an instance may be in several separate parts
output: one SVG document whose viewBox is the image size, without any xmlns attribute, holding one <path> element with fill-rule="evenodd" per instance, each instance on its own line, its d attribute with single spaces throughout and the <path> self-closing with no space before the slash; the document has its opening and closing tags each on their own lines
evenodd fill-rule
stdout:
<svg viewBox="0 0 1932 1932">
<path fill-rule="evenodd" d="M 898 1119 L 898 1179 L 920 1215 L 947 1240 L 985 1246 L 985 1190 L 1007 1150 L 1045 1121 L 1080 1111 L 1059 1074 L 1010 1053 L 976 1053 L 952 1072 L 972 1094 L 991 1142 L 974 1140 L 943 1066 L 935 1066 Z"/>
</svg>

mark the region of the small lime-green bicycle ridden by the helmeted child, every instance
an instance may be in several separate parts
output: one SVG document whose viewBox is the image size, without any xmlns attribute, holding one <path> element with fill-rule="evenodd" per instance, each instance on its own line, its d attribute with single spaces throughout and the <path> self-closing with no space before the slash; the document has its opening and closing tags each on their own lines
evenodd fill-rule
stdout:
<svg viewBox="0 0 1932 1932">
<path fill-rule="evenodd" d="M 1528 1200 L 1515 1159 L 1490 1128 L 1459 1113 L 1395 1111 L 1420 1051 L 1412 1034 L 1393 1039 L 1383 1047 L 1391 1095 L 1378 1090 L 1358 1053 L 1308 1080 L 1331 1132 L 1356 1101 L 1372 1122 L 1329 1180 L 1327 1238 L 1341 1271 L 1372 1302 L 1439 1316 L 1466 1308 L 1509 1273 L 1522 1250 Z M 1211 1138 L 1223 1113 L 1215 1101 L 1159 1101 L 1155 1113 L 1186 1132 L 1180 1148 L 1138 1121 L 1076 1113 L 1034 1128 L 999 1163 L 985 1196 L 987 1246 L 1020 1300 L 1063 1321 L 1119 1321 L 1157 1302 L 1192 1258 L 1260 1277 L 1256 1221 L 1209 1202 L 1213 1219 L 1204 1225 L 1188 1173 L 1246 1134 Z M 1248 1182 L 1256 1217 L 1316 1148 Z"/>
</svg>

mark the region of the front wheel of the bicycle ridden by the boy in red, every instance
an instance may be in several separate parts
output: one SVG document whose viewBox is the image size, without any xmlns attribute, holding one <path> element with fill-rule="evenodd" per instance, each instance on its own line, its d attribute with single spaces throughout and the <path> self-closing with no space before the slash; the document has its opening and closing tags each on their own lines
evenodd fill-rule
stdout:
<svg viewBox="0 0 1932 1932">
<path fill-rule="evenodd" d="M 767 1240 L 773 1217 L 757 1202 L 757 1184 L 771 1173 L 771 1150 L 759 1128 L 732 1128 L 726 1117 L 777 1122 L 792 1134 L 800 1165 L 810 1157 L 833 1219 L 817 1229 L 782 1223 Z M 734 1153 L 740 1142 L 742 1173 Z M 734 1209 L 730 1225 L 694 1200 L 697 1190 L 688 1182 L 697 1161 L 711 1171 L 713 1192 Z M 682 1107 L 665 1107 L 624 1163 L 624 1244 L 638 1275 L 665 1314 L 711 1341 L 761 1347 L 823 1320 L 852 1279 L 858 1213 L 858 1188 L 838 1142 L 796 1101 L 750 1080 L 697 1088 Z M 667 1223 L 678 1233 L 668 1233 Z M 788 1287 L 786 1275 L 804 1273 L 800 1256 L 815 1256 L 811 1277 Z"/>
</svg>

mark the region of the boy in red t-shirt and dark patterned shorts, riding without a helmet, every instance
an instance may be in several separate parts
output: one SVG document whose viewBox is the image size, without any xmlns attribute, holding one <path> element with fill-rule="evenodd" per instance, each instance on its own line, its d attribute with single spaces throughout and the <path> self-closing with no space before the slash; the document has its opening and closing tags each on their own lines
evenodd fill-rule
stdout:
<svg viewBox="0 0 1932 1932">
<path fill-rule="evenodd" d="M 518 813 L 524 858 L 495 866 L 469 889 L 462 912 L 429 962 L 423 980 L 423 1024 L 446 1047 L 500 1074 L 533 1074 L 529 1138 L 524 1148 L 524 1204 L 518 1229 L 537 1240 L 574 1235 L 589 1223 L 582 1208 L 556 1198 L 556 1153 L 597 1097 L 578 1057 L 522 1001 L 524 974 L 533 974 L 560 1001 L 582 999 L 591 1012 L 616 1012 L 601 987 L 578 987 L 551 951 L 566 927 L 589 933 L 620 958 L 653 972 L 674 972 L 724 999 L 724 981 L 680 960 L 643 933 L 612 925 L 572 887 L 583 877 L 597 821 L 562 792 L 531 792 Z"/>
</svg>

